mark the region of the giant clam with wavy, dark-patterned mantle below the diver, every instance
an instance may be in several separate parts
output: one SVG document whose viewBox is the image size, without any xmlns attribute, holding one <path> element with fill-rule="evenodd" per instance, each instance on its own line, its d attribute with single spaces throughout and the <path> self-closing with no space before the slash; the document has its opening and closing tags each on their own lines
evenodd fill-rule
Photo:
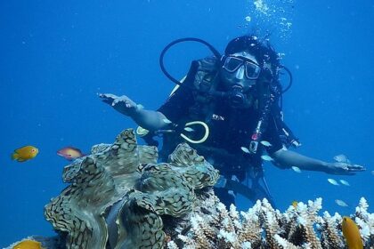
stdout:
<svg viewBox="0 0 374 249">
<path fill-rule="evenodd" d="M 219 175 L 185 143 L 167 163 L 157 160 L 157 148 L 138 145 L 127 129 L 66 166 L 69 186 L 45 205 L 66 248 L 162 248 L 163 220 L 191 213 L 195 190 Z"/>
</svg>

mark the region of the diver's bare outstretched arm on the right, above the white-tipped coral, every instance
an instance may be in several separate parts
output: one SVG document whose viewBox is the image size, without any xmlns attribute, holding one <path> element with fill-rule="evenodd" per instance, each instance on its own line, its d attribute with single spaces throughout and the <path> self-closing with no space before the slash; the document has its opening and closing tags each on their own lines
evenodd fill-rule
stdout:
<svg viewBox="0 0 374 249">
<path fill-rule="evenodd" d="M 365 170 L 360 165 L 349 165 L 346 163 L 327 163 L 312 157 L 305 157 L 295 151 L 280 149 L 272 154 L 275 165 L 280 168 L 296 166 L 302 170 L 320 171 L 330 174 L 354 174 Z"/>
</svg>

